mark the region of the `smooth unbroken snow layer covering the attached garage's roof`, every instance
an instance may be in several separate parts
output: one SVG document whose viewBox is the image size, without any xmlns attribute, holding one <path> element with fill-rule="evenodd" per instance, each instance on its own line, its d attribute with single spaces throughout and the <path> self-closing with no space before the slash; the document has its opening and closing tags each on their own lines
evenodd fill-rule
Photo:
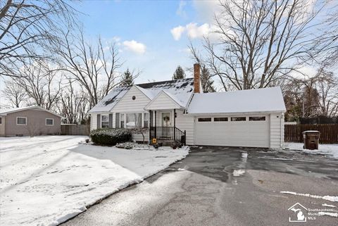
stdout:
<svg viewBox="0 0 338 226">
<path fill-rule="evenodd" d="M 286 111 L 280 87 L 194 94 L 190 114 Z"/>
</svg>

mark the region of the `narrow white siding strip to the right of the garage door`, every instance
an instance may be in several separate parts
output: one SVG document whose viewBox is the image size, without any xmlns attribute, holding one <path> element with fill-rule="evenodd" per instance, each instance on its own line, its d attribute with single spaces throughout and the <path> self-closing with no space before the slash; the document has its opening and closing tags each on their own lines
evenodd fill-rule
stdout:
<svg viewBox="0 0 338 226">
<path fill-rule="evenodd" d="M 270 115 L 270 148 L 278 149 L 284 146 L 284 117 L 283 114 Z"/>
</svg>

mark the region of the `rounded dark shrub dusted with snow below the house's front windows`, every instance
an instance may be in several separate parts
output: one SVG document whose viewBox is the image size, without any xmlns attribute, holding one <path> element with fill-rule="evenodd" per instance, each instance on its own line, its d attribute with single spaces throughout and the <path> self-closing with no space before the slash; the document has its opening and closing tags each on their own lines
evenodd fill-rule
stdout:
<svg viewBox="0 0 338 226">
<path fill-rule="evenodd" d="M 125 129 L 99 129 L 92 130 L 90 138 L 94 144 L 113 146 L 118 143 L 130 142 L 132 133 Z"/>
</svg>

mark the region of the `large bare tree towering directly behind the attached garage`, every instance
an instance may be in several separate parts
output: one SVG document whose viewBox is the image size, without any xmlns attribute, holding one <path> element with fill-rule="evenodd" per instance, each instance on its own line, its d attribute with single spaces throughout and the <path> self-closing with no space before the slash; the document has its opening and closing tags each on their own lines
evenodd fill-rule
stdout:
<svg viewBox="0 0 338 226">
<path fill-rule="evenodd" d="M 312 33 L 314 19 L 323 8 L 320 4 L 305 0 L 220 1 L 214 35 L 205 38 L 204 49 L 208 67 L 223 89 L 268 87 L 310 57 L 317 37 Z"/>
</svg>

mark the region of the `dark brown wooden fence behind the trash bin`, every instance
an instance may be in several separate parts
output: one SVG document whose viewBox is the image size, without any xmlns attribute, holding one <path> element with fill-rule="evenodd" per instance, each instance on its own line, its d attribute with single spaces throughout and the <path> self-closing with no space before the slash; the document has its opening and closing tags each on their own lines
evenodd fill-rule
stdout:
<svg viewBox="0 0 338 226">
<path fill-rule="evenodd" d="M 284 125 L 285 142 L 303 142 L 303 134 L 306 130 L 318 130 L 320 132 L 320 144 L 338 143 L 338 124 L 318 125 Z"/>
</svg>

